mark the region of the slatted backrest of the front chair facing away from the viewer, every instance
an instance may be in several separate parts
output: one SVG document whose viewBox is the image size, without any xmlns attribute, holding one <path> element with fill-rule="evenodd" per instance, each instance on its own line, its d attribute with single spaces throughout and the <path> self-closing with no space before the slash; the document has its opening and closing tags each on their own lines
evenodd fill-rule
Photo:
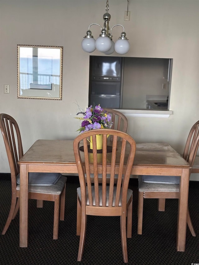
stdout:
<svg viewBox="0 0 199 265">
<path fill-rule="evenodd" d="M 96 135 L 103 135 L 102 153 L 97 153 Z M 111 143 L 112 152 L 107 153 L 107 135 L 113 136 Z M 92 136 L 93 150 L 89 153 L 87 138 Z M 118 137 L 122 142 L 118 142 Z M 80 142 L 83 140 L 84 152 L 81 152 Z M 126 205 L 127 189 L 131 169 L 134 161 L 136 143 L 132 137 L 124 132 L 113 129 L 90 130 L 78 135 L 73 143 L 80 186 L 81 186 L 81 207 L 87 204 L 90 206 L 111 207 Z M 114 183 L 116 167 L 118 168 L 117 183 Z M 86 177 L 85 177 L 86 174 Z M 94 185 L 90 177 L 94 175 Z M 99 174 L 102 175 L 99 182 Z M 107 181 L 107 174 L 109 174 Z M 102 181 L 101 181 L 102 179 Z M 86 186 L 87 185 L 87 186 Z M 116 193 L 113 192 L 116 186 Z M 95 190 L 93 198 L 92 190 Z M 102 190 L 100 193 L 99 190 Z M 122 197 L 120 196 L 122 191 Z M 101 198 L 99 196 L 101 194 Z M 114 203 L 113 203 L 114 202 Z M 126 207 L 126 206 L 125 206 Z"/>
</svg>

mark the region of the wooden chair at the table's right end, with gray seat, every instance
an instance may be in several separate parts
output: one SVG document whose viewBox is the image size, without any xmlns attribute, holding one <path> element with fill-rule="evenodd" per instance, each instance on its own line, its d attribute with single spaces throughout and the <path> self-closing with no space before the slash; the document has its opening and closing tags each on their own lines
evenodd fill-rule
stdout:
<svg viewBox="0 0 199 265">
<path fill-rule="evenodd" d="M 199 145 L 199 121 L 191 128 L 187 142 L 185 144 L 183 158 L 193 166 Z M 191 175 L 192 169 L 190 169 Z M 137 233 L 142 234 L 143 202 L 144 198 L 158 199 L 158 210 L 165 210 L 165 199 L 179 198 L 179 176 L 138 176 L 139 195 L 138 195 L 138 225 Z M 194 231 L 189 209 L 187 209 L 187 225 L 193 236 Z"/>
</svg>

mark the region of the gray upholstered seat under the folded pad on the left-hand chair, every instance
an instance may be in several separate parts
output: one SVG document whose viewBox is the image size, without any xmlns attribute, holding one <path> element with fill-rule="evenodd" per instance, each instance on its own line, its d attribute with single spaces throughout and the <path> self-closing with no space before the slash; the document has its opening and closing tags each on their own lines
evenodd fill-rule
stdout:
<svg viewBox="0 0 199 265">
<path fill-rule="evenodd" d="M 28 185 L 29 192 L 46 193 L 46 194 L 61 194 L 66 184 L 67 177 L 61 176 L 53 185 Z M 16 190 L 20 190 L 20 184 L 16 186 Z"/>
</svg>

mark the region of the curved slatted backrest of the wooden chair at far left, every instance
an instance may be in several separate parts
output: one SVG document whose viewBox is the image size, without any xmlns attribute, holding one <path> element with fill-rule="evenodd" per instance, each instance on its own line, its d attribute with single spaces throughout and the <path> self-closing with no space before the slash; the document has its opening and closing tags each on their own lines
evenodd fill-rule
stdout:
<svg viewBox="0 0 199 265">
<path fill-rule="evenodd" d="M 21 134 L 15 119 L 8 114 L 0 114 L 0 128 L 6 147 L 8 162 L 11 170 L 11 177 L 15 178 L 19 173 L 18 161 L 23 156 Z M 16 184 L 15 184 L 16 185 Z"/>
</svg>

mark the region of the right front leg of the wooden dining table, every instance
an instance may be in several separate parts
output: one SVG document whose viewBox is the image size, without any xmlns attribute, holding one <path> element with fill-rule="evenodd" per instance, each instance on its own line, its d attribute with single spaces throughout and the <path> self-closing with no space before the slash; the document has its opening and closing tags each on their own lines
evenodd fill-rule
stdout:
<svg viewBox="0 0 199 265">
<path fill-rule="evenodd" d="M 179 186 L 180 197 L 178 200 L 178 226 L 177 226 L 177 251 L 185 251 L 187 231 L 187 206 L 189 193 L 189 169 L 182 170 Z"/>
</svg>

